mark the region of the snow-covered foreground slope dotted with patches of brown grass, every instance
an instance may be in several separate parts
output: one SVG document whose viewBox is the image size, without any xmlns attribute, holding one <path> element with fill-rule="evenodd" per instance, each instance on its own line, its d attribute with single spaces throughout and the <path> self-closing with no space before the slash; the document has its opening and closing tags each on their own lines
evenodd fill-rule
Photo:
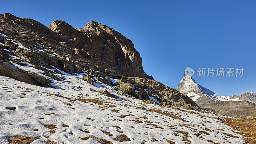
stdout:
<svg viewBox="0 0 256 144">
<path fill-rule="evenodd" d="M 40 70 L 32 67 L 16 66 L 40 74 Z M 94 83 L 96 86 L 93 86 L 82 80 L 82 74 L 61 73 L 64 75 L 55 74 L 64 77 L 61 81 L 48 77 L 57 89 L 0 76 L 1 144 L 8 143 L 8 138 L 16 135 L 38 137 L 33 143 L 98 143 L 97 138 L 118 143 L 120 136 L 127 140 L 125 143 L 153 143 L 155 140 L 154 143 L 243 142 L 236 130 L 211 118 L 215 114 L 144 103 L 119 95 L 106 84 Z M 97 92 L 106 89 L 118 98 Z M 52 128 L 54 133 L 46 128 L 47 124 L 56 126 Z M 81 139 L 85 137 L 90 138 Z"/>
</svg>

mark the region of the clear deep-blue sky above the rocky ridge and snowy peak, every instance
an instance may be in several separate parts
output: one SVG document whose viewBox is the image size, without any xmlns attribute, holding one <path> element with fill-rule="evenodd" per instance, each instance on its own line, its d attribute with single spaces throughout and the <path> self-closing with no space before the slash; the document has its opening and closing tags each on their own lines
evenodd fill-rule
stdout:
<svg viewBox="0 0 256 144">
<path fill-rule="evenodd" d="M 84 28 L 94 20 L 114 28 L 132 40 L 145 72 L 173 88 L 186 67 L 231 67 L 244 68 L 243 76 L 193 78 L 219 95 L 256 92 L 254 0 L 1 1 L 5 12 L 47 27 L 63 20 Z"/>
</svg>

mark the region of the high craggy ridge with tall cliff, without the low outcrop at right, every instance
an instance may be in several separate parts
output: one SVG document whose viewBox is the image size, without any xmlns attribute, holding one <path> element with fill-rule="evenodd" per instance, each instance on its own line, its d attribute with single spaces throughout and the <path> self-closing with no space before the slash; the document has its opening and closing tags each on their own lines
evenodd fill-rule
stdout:
<svg viewBox="0 0 256 144">
<path fill-rule="evenodd" d="M 81 73 L 81 69 L 110 69 L 115 71 L 114 75 L 149 77 L 132 41 L 98 22 L 91 21 L 84 29 L 75 29 L 64 21 L 54 20 L 47 28 L 36 20 L 5 13 L 0 14 L 0 33 L 27 47 L 28 50 L 19 47 L 11 49 L 15 55 L 33 65 L 54 66 L 70 74 Z M 12 43 L 5 39 L 1 41 L 6 45 Z"/>
</svg>

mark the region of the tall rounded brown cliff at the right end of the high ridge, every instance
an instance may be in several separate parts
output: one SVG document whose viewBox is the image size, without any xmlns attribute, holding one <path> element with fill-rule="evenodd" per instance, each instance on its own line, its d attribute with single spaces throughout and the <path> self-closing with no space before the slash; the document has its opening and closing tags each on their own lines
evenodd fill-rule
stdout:
<svg viewBox="0 0 256 144">
<path fill-rule="evenodd" d="M 135 50 L 130 39 L 95 21 L 86 24 L 81 31 L 90 34 L 81 49 L 116 66 L 121 73 L 125 73 L 124 76 L 148 77 L 143 70 L 140 53 Z"/>
</svg>

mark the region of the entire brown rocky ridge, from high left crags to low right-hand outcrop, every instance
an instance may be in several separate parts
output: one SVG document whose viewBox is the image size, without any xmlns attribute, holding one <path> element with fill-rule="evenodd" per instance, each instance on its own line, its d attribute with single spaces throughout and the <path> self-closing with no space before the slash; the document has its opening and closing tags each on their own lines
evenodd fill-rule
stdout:
<svg viewBox="0 0 256 144">
<path fill-rule="evenodd" d="M 1 48 L 20 58 L 7 60 L 24 66 L 32 64 L 49 79 L 61 81 L 63 78 L 55 76 L 56 73 L 76 75 L 84 70 L 88 75 L 83 80 L 92 85 L 116 86 L 121 94 L 140 100 L 154 99 L 153 103 L 161 106 L 175 104 L 198 109 L 186 95 L 148 76 L 132 41 L 113 28 L 95 21 L 84 28 L 73 28 L 61 20 L 54 20 L 47 28 L 36 20 L 9 13 L 0 14 L 0 23 Z M 27 74 L 36 79 L 34 73 Z M 41 74 L 37 76 L 39 79 Z M 116 84 L 110 78 L 120 81 Z"/>
</svg>

